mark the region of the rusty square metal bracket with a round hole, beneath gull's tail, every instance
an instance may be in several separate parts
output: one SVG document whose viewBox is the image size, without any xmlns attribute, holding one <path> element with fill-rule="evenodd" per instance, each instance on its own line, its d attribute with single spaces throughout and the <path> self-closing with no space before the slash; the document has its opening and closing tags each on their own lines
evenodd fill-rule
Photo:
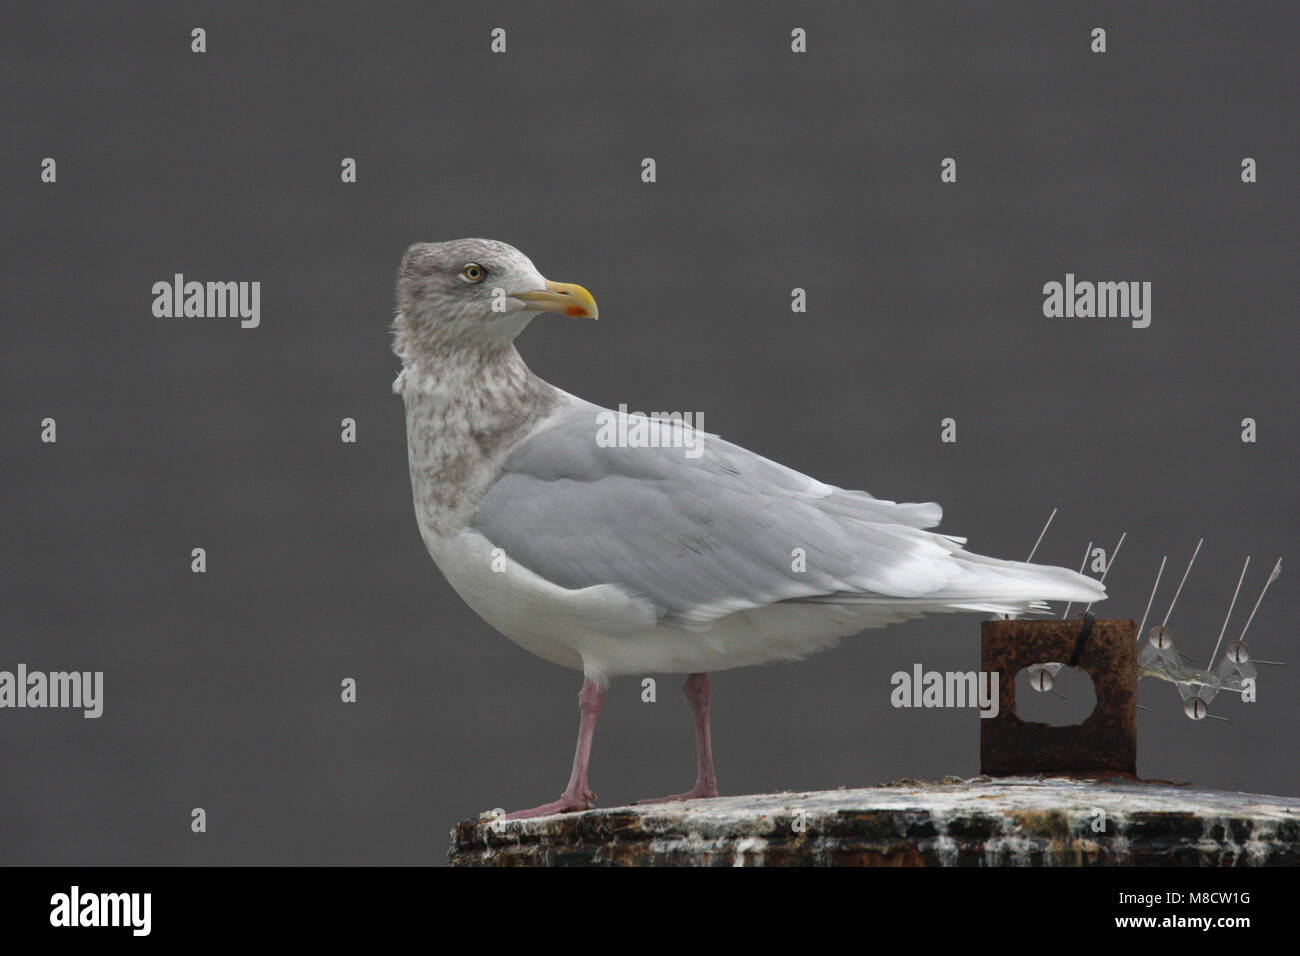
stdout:
<svg viewBox="0 0 1300 956">
<path fill-rule="evenodd" d="M 1091 617 L 1091 615 L 1089 615 Z M 1138 775 L 1138 626 L 1132 620 L 985 620 L 982 669 L 998 674 L 997 717 L 980 719 L 980 773 L 989 777 Z M 1015 713 L 1015 675 L 1070 662 L 1092 678 L 1097 706 L 1053 727 Z"/>
</svg>

